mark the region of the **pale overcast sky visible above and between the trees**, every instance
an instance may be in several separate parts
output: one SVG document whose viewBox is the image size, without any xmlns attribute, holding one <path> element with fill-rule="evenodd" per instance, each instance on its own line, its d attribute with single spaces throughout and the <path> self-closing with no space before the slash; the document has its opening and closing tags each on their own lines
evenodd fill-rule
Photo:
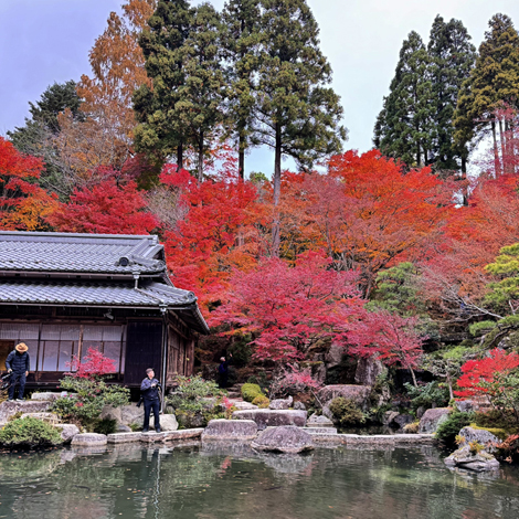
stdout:
<svg viewBox="0 0 519 519">
<path fill-rule="evenodd" d="M 54 82 L 89 73 L 88 50 L 109 11 L 123 0 L 0 0 L 0 135 L 22 125 L 28 102 Z M 193 1 L 192 3 L 198 3 Z M 221 9 L 224 0 L 213 0 Z M 436 14 L 457 18 L 479 45 L 488 20 L 504 12 L 519 27 L 518 0 L 308 0 L 320 27 L 321 49 L 342 98 L 347 148 L 371 148 L 372 129 L 388 93 L 402 41 L 424 41 Z M 254 151 L 247 170 L 272 170 L 267 151 Z"/>
</svg>

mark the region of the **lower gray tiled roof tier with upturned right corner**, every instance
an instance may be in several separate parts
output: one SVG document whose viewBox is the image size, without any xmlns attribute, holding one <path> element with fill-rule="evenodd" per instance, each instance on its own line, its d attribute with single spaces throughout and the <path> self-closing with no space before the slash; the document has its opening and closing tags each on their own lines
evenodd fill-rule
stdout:
<svg viewBox="0 0 519 519">
<path fill-rule="evenodd" d="M 159 308 L 179 310 L 190 326 L 209 331 L 194 294 L 162 283 L 0 278 L 0 305 L 65 305 L 83 307 Z"/>
</svg>

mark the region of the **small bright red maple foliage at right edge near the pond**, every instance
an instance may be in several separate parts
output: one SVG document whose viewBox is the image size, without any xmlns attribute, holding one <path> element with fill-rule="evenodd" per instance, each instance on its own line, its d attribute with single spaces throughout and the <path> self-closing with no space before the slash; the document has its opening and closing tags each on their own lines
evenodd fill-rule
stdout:
<svg viewBox="0 0 519 519">
<path fill-rule="evenodd" d="M 488 384 L 495 382 L 496 377 L 507 374 L 519 368 L 519 354 L 507 354 L 504 350 L 491 350 L 489 357 L 478 360 L 468 360 L 462 366 L 462 377 L 457 381 L 460 391 L 455 391 L 462 399 L 485 395 L 489 392 Z"/>
</svg>

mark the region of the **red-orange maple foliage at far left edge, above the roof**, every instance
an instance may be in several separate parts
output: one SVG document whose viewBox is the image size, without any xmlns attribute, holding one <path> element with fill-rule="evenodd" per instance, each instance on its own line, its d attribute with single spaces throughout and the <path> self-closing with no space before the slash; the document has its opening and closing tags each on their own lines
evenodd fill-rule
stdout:
<svg viewBox="0 0 519 519">
<path fill-rule="evenodd" d="M 42 169 L 40 159 L 20 153 L 0 137 L 0 229 L 38 231 L 44 227 L 43 218 L 57 202 L 55 195 L 38 183 Z"/>
</svg>

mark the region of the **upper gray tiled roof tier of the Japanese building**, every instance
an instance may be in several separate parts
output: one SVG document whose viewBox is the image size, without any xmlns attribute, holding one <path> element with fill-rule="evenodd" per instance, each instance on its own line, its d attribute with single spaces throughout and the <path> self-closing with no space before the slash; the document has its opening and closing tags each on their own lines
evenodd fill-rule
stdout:
<svg viewBox="0 0 519 519">
<path fill-rule="evenodd" d="M 163 258 L 152 235 L 0 231 L 0 272 L 146 275 L 166 272 Z"/>
</svg>

